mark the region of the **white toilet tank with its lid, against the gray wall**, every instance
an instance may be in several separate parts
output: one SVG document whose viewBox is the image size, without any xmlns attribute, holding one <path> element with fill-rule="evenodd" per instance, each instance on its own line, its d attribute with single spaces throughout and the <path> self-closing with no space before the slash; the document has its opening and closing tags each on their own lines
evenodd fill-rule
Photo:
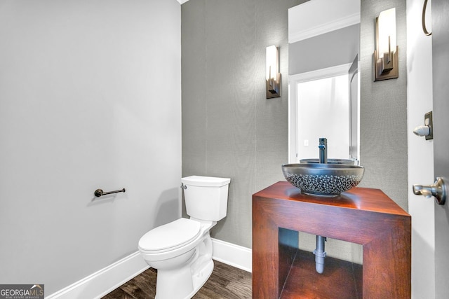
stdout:
<svg viewBox="0 0 449 299">
<path fill-rule="evenodd" d="M 227 213 L 227 191 L 231 179 L 212 176 L 187 176 L 181 179 L 185 208 L 193 218 L 219 221 Z"/>
</svg>

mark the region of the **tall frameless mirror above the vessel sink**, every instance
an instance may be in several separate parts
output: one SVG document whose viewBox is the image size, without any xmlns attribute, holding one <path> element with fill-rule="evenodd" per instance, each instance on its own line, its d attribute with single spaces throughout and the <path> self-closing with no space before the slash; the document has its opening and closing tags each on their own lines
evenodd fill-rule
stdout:
<svg viewBox="0 0 449 299">
<path fill-rule="evenodd" d="M 288 11 L 289 162 L 359 155 L 360 0 L 313 0 Z"/>
</svg>

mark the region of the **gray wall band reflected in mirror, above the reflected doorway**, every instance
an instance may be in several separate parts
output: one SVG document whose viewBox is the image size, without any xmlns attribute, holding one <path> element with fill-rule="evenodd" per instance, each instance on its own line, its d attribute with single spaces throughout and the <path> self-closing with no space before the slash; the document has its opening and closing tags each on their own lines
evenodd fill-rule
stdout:
<svg viewBox="0 0 449 299">
<path fill-rule="evenodd" d="M 354 62 L 360 49 L 360 24 L 288 45 L 288 74 Z"/>
</svg>

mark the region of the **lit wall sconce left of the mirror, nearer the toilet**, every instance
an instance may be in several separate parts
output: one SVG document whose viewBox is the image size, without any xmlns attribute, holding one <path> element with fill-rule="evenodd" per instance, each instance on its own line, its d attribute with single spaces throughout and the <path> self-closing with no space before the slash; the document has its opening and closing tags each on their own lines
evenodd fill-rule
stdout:
<svg viewBox="0 0 449 299">
<path fill-rule="evenodd" d="M 267 47 L 267 99 L 281 97 L 281 74 L 279 73 L 279 50 Z"/>
</svg>

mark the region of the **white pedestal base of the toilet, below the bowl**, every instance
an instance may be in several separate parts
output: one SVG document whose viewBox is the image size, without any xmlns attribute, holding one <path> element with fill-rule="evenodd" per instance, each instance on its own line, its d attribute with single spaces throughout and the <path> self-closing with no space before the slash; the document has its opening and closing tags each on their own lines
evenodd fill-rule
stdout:
<svg viewBox="0 0 449 299">
<path fill-rule="evenodd" d="M 192 274 L 191 267 L 177 270 L 158 270 L 155 299 L 190 299 L 206 283 L 213 272 L 210 259 Z"/>
</svg>

